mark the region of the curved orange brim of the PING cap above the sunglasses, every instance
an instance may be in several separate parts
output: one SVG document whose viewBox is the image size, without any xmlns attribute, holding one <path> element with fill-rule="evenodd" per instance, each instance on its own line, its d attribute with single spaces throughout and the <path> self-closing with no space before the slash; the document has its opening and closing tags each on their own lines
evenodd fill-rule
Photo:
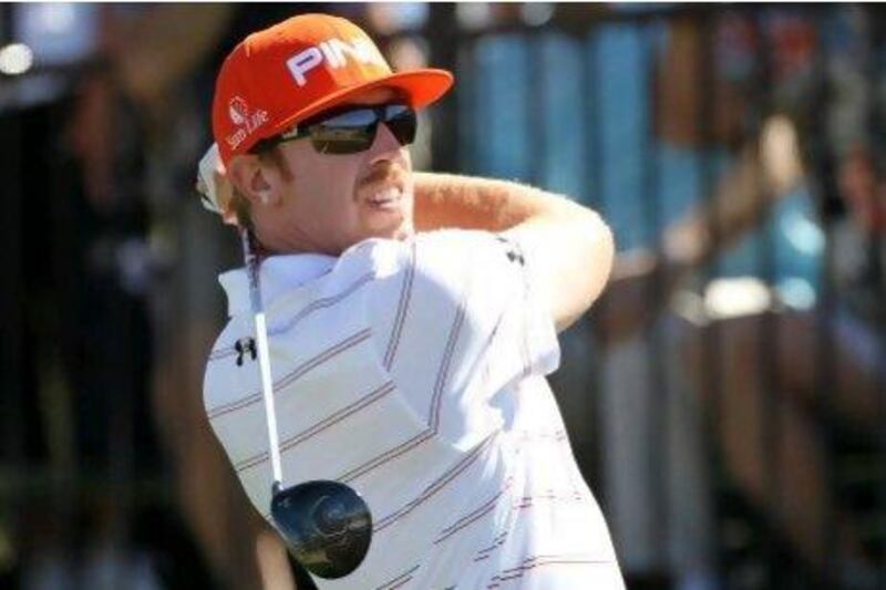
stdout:
<svg viewBox="0 0 886 590">
<path fill-rule="evenodd" d="M 266 137 L 272 137 L 278 133 L 287 131 L 299 121 L 316 115 L 327 108 L 331 108 L 342 102 L 348 101 L 357 94 L 373 89 L 393 89 L 400 91 L 413 108 L 423 108 L 440 100 L 451 87 L 454 77 L 451 72 L 446 70 L 437 70 L 433 68 L 425 68 L 422 70 L 410 70 L 406 72 L 396 72 L 384 77 L 359 84 L 349 89 L 340 90 L 323 99 L 311 103 L 305 108 L 293 113 L 291 116 L 278 123 Z M 257 137 L 255 143 L 258 143 L 260 137 Z"/>
</svg>

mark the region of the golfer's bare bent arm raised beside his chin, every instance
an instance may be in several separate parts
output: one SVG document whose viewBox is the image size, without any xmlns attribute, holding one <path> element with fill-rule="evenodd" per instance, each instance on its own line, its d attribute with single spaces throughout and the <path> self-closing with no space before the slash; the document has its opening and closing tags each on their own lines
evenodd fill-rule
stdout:
<svg viewBox="0 0 886 590">
<path fill-rule="evenodd" d="M 505 180 L 416 173 L 416 231 L 444 227 L 505 232 L 529 249 L 557 331 L 587 311 L 612 266 L 611 231 L 577 203 Z"/>
</svg>

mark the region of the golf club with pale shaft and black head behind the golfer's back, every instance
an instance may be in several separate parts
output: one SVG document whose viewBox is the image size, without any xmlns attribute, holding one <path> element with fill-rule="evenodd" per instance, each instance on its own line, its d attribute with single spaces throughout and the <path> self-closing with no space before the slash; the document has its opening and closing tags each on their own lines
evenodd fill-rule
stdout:
<svg viewBox="0 0 886 590">
<path fill-rule="evenodd" d="M 274 482 L 270 514 L 292 558 L 320 578 L 336 579 L 356 570 L 369 551 L 372 515 L 369 506 L 351 487 L 339 482 L 312 480 L 285 488 L 280 466 L 280 445 L 274 405 L 268 333 L 261 303 L 255 235 L 240 232 L 249 299 L 256 329 L 256 348 L 261 372 L 261 395 L 268 425 L 268 443 Z"/>
</svg>

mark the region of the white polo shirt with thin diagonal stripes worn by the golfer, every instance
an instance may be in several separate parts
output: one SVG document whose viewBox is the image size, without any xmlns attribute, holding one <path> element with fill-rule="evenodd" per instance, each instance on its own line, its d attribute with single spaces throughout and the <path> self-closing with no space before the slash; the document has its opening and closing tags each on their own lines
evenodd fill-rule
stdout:
<svg viewBox="0 0 886 590">
<path fill-rule="evenodd" d="M 261 266 L 285 485 L 347 483 L 369 553 L 320 588 L 624 588 L 544 375 L 559 363 L 530 252 L 445 230 Z M 213 429 L 269 518 L 271 469 L 243 269 L 206 368 Z"/>
</svg>

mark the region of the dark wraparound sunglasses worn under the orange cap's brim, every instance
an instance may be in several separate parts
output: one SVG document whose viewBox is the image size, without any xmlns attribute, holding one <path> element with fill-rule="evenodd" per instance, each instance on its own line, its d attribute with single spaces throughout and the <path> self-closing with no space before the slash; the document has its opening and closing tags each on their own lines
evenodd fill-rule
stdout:
<svg viewBox="0 0 886 590">
<path fill-rule="evenodd" d="M 372 146 L 380 123 L 388 125 L 400 145 L 415 141 L 415 111 L 404 104 L 380 104 L 327 111 L 288 132 L 259 141 L 250 152 L 260 154 L 276 145 L 307 137 L 318 154 L 357 154 Z"/>
</svg>

